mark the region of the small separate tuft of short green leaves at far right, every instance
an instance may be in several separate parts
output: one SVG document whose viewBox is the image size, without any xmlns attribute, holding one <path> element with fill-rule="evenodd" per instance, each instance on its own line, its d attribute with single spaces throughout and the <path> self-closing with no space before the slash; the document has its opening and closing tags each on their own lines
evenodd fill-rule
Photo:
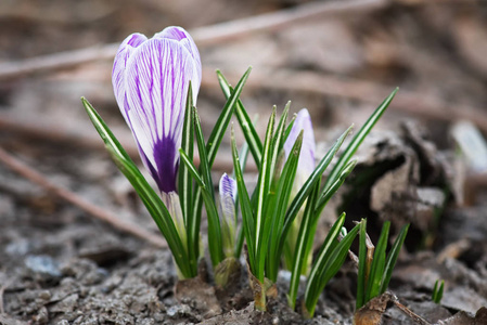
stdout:
<svg viewBox="0 0 487 325">
<path fill-rule="evenodd" d="M 402 226 L 389 252 L 386 253 L 389 227 L 390 222 L 386 221 L 382 227 L 377 245 L 374 247 L 367 236 L 367 221 L 362 220 L 360 223 L 356 310 L 362 308 L 372 298 L 384 294 L 389 285 L 409 224 Z"/>
</svg>

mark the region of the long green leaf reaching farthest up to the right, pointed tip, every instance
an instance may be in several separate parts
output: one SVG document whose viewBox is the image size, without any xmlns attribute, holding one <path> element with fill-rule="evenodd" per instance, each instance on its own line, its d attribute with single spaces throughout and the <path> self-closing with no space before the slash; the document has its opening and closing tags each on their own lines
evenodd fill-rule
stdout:
<svg viewBox="0 0 487 325">
<path fill-rule="evenodd" d="M 399 88 L 396 88 L 385 100 L 382 102 L 381 105 L 379 105 L 377 108 L 375 108 L 375 112 L 369 117 L 367 122 L 360 128 L 358 133 L 354 136 L 351 142 L 348 144 L 345 152 L 339 157 L 338 161 L 336 162 L 335 167 L 333 168 L 332 172 L 326 179 L 326 182 L 324 184 L 323 191 L 326 191 L 328 187 L 330 187 L 338 178 L 339 171 L 343 169 L 345 165 L 348 164 L 351 156 L 357 152 L 360 144 L 363 142 L 363 139 L 366 139 L 367 134 L 369 134 L 370 130 L 375 126 L 377 120 L 381 118 L 381 116 L 384 114 L 387 106 L 393 101 L 394 96 L 396 95 Z"/>
</svg>

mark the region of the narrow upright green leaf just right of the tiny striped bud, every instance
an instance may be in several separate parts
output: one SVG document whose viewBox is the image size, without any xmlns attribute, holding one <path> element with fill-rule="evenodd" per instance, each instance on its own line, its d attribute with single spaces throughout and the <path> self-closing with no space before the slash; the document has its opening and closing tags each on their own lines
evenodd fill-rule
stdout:
<svg viewBox="0 0 487 325">
<path fill-rule="evenodd" d="M 244 229 L 244 235 L 247 243 L 248 251 L 248 264 L 253 274 L 256 274 L 255 265 L 255 224 L 254 214 L 252 212 L 251 198 L 248 197 L 247 187 L 245 186 L 242 169 L 240 167 L 239 154 L 236 152 L 235 136 L 232 128 L 232 158 L 233 170 L 235 172 L 236 187 L 239 192 L 240 209 L 242 211 L 242 224 Z"/>
</svg>

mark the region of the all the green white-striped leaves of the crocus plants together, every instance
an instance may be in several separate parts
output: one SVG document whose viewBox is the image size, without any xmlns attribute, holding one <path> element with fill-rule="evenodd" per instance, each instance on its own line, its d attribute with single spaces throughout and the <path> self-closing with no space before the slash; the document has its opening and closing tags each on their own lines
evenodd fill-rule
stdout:
<svg viewBox="0 0 487 325">
<path fill-rule="evenodd" d="M 229 278 L 228 270 L 240 266 L 238 259 L 245 240 L 246 261 L 249 270 L 249 282 L 255 292 L 255 306 L 257 309 L 266 310 L 266 296 L 271 295 L 271 291 L 275 292 L 273 284 L 277 282 L 283 259 L 284 244 L 294 220 L 302 211 L 303 221 L 298 226 L 294 252 L 287 259 L 287 264 L 291 266 L 287 298 L 289 304 L 295 309 L 298 299 L 299 276 L 304 266 L 306 266 L 305 263 L 310 260 L 319 218 L 328 202 L 354 170 L 356 161 L 351 159 L 353 155 L 385 112 L 397 89 L 384 100 L 366 125 L 351 139 L 325 181 L 322 182 L 323 174 L 345 139 L 350 134 L 351 127 L 336 140 L 304 185 L 295 195 L 292 195 L 292 185 L 296 177 L 303 146 L 303 131 L 297 135 L 291 153 L 285 157 L 283 145 L 294 122 L 293 118 L 289 120 L 289 103 L 279 119 L 277 108 L 273 108 L 264 141 L 261 141 L 239 99 L 249 70 L 243 75 L 235 88 L 232 88 L 222 74 L 217 72 L 227 103 L 207 141 L 203 135 L 197 109 L 193 106 L 191 100 L 190 84 L 182 126 L 181 148 L 179 150 L 181 164 L 178 172 L 178 200 L 175 200 L 178 203 L 177 206 L 165 204 L 142 177 L 136 164 L 124 151 L 91 104 L 85 99 L 82 99 L 82 103 L 97 131 L 105 142 L 113 160 L 130 181 L 168 242 L 180 278 L 194 277 L 197 274 L 198 260 L 202 258 L 200 225 L 204 203 L 208 222 L 208 250 L 215 270 L 216 283 L 225 286 Z M 219 213 L 210 173 L 219 145 L 233 115 L 236 116 L 245 136 L 245 144 L 241 153 L 238 153 L 234 130 L 232 129 L 233 174 L 238 187 L 238 195 L 235 195 L 233 204 L 235 211 L 239 207 L 242 214 L 240 232 L 236 232 L 236 213 L 229 213 L 234 218 L 233 220 L 225 220 L 221 211 Z M 196 143 L 196 146 L 194 143 Z M 193 162 L 195 147 L 200 158 L 198 167 Z M 259 171 L 257 185 L 252 194 L 248 193 L 243 176 L 248 153 L 252 154 Z M 180 220 L 175 220 L 175 213 L 181 214 Z M 398 250 L 403 243 L 407 227 L 401 231 L 386 259 L 388 224 L 385 224 L 375 255 L 373 259 L 368 259 L 373 252 L 366 246 L 363 246 L 366 250 L 362 252 L 366 221 L 363 220 L 347 232 L 344 227 L 345 218 L 345 213 L 342 213 L 336 220 L 326 238 L 319 246 L 318 255 L 312 261 L 303 297 L 303 310 L 305 315 L 309 317 L 315 313 L 316 304 L 323 288 L 345 261 L 358 233 L 360 233 L 361 246 L 358 289 L 360 298 L 358 296 L 357 308 L 385 290 L 390 280 L 390 273 Z M 338 240 L 341 233 L 342 239 Z"/>
</svg>

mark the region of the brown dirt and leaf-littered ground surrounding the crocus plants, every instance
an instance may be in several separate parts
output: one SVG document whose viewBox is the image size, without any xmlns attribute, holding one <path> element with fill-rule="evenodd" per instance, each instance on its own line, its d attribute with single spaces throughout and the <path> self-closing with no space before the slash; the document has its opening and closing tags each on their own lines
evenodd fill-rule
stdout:
<svg viewBox="0 0 487 325">
<path fill-rule="evenodd" d="M 253 66 L 242 101 L 260 132 L 272 105 L 307 107 L 318 157 L 399 87 L 317 243 L 342 211 L 348 225 L 368 218 L 374 242 L 383 221 L 393 233 L 411 223 L 390 291 L 432 324 L 487 324 L 487 5 L 473 0 L 0 2 L 0 324 L 351 324 L 349 261 L 312 320 L 286 307 L 286 272 L 267 313 L 245 270 L 227 292 L 210 274 L 185 284 L 194 295 L 176 289 L 165 242 L 79 101 L 137 157 L 113 95 L 114 47 L 169 25 L 200 48 L 205 134 L 225 104 L 217 68 L 235 82 Z M 229 140 L 215 179 L 232 170 Z M 418 324 L 392 303 L 383 321 Z"/>
</svg>

